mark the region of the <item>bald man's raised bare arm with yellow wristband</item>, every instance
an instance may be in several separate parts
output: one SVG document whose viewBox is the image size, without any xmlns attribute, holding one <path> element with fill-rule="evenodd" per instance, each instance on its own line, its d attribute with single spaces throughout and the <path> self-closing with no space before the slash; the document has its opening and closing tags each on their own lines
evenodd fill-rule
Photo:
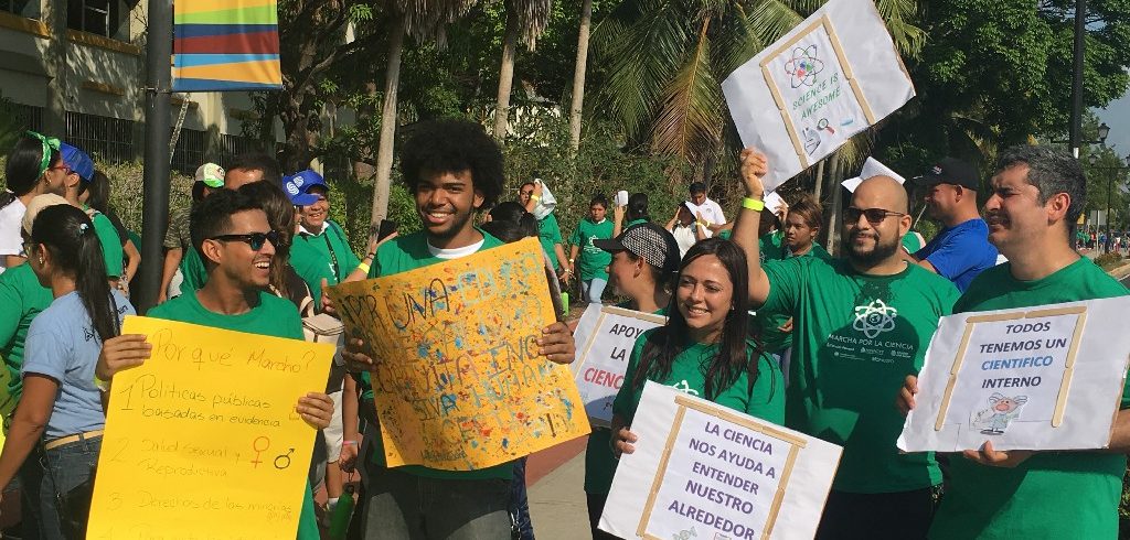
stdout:
<svg viewBox="0 0 1130 540">
<path fill-rule="evenodd" d="M 757 246 L 758 227 L 760 225 L 760 211 L 748 206 L 763 206 L 765 196 L 765 185 L 762 177 L 768 172 L 768 159 L 754 148 L 741 151 L 741 185 L 746 193 L 741 207 L 738 209 L 738 216 L 733 220 L 733 233 L 730 240 L 738 245 L 746 253 L 747 265 L 749 267 L 749 301 L 754 307 L 760 307 L 770 298 L 770 280 L 762 269 L 760 251 Z"/>
</svg>

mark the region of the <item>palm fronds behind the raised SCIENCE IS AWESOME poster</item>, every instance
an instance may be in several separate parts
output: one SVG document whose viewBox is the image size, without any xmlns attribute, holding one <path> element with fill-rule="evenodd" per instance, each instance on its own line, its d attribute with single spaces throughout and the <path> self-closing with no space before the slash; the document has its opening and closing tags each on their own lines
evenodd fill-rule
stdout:
<svg viewBox="0 0 1130 540">
<path fill-rule="evenodd" d="M 722 79 L 800 24 L 820 0 L 632 0 L 596 30 L 594 45 L 608 80 L 600 105 L 626 134 L 653 152 L 675 156 L 704 174 L 727 151 L 732 125 Z M 878 0 L 877 7 L 904 55 L 922 46 L 907 20 L 915 0 Z M 846 167 L 867 156 L 864 141 L 841 152 Z M 734 149 L 730 149 L 734 150 Z"/>
</svg>

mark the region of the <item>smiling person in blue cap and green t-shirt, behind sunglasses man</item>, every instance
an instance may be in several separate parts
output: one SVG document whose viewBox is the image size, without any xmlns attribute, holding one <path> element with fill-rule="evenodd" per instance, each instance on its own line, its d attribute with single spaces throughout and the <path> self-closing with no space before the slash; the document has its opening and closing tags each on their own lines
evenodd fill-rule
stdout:
<svg viewBox="0 0 1130 540">
<path fill-rule="evenodd" d="M 311 169 L 298 171 L 282 177 L 282 187 L 302 216 L 290 248 L 290 264 L 310 285 L 314 302 L 321 309 L 322 282 L 337 285 L 368 275 L 376 238 L 370 237 L 365 259 L 358 260 L 341 225 L 329 219 L 330 192 L 322 175 Z"/>
</svg>

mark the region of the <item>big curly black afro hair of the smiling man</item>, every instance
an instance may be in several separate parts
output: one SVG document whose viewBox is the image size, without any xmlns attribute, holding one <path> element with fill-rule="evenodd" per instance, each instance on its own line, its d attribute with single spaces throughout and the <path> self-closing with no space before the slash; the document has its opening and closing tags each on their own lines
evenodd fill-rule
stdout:
<svg viewBox="0 0 1130 540">
<path fill-rule="evenodd" d="M 483 126 L 463 119 L 423 122 L 400 149 L 400 171 L 416 194 L 425 172 L 471 171 L 471 185 L 483 194 L 483 207 L 494 206 L 503 193 L 502 150 Z"/>
</svg>

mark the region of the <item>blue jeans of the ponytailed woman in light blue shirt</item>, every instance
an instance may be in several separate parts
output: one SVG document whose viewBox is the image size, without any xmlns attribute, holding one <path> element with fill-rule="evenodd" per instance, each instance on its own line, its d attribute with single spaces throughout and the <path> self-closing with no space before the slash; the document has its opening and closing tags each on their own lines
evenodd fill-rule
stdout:
<svg viewBox="0 0 1130 540">
<path fill-rule="evenodd" d="M 84 483 L 93 481 L 92 473 L 94 472 L 94 466 L 98 463 L 98 451 L 101 449 L 102 435 L 98 435 L 44 451 L 46 471 L 43 475 L 43 481 L 40 484 L 40 530 L 42 538 L 64 538 L 61 519 L 68 516 L 68 510 L 59 507 L 56 495 L 66 495 Z M 75 508 L 72 512 L 78 513 L 80 511 L 89 513 L 88 507 Z M 82 521 L 85 524 L 85 519 Z"/>
</svg>

